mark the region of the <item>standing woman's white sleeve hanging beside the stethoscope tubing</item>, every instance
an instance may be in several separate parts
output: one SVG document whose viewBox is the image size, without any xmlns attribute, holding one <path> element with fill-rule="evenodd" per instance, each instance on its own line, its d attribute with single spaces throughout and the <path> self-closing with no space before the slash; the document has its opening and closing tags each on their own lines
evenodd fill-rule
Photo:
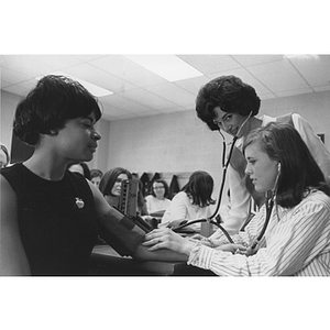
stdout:
<svg viewBox="0 0 330 330">
<path fill-rule="evenodd" d="M 224 219 L 223 228 L 229 232 L 238 232 L 250 213 L 251 195 L 245 187 L 244 179 L 231 165 L 229 165 L 227 174 L 231 209 L 228 218 Z"/>
</svg>

